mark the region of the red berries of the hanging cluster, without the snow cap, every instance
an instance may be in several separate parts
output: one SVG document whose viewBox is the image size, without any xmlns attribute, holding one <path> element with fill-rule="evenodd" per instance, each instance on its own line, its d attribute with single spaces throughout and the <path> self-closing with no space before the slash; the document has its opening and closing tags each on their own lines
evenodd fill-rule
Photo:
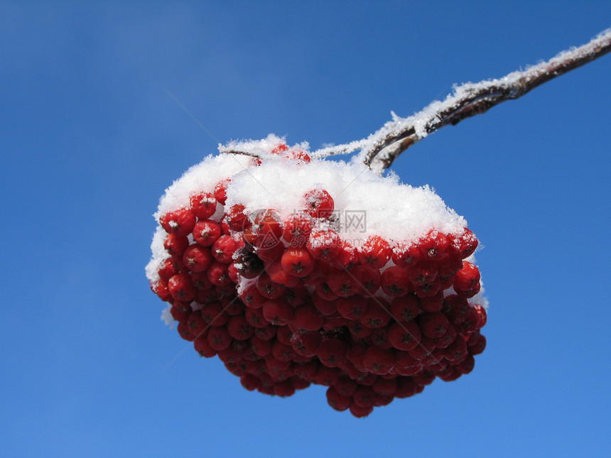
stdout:
<svg viewBox="0 0 611 458">
<path fill-rule="evenodd" d="M 180 336 L 244 388 L 291 396 L 318 383 L 332 408 L 364 417 L 472 371 L 486 312 L 468 300 L 480 289 L 463 261 L 477 246 L 469 229 L 353 246 L 320 229 L 334 210 L 325 190 L 306 192 L 303 212 L 285 218 L 234 205 L 213 220 L 226 190 L 220 182 L 163 214 L 168 257 L 151 288 L 171 303 Z"/>
</svg>

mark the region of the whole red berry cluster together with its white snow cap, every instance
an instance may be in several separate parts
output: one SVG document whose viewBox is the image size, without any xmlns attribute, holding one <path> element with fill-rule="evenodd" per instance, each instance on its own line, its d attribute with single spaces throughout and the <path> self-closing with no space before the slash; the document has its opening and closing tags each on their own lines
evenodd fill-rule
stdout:
<svg viewBox="0 0 611 458">
<path fill-rule="evenodd" d="M 233 143 L 166 190 L 151 290 L 249 391 L 328 387 L 365 417 L 470 373 L 486 339 L 475 234 L 428 187 L 282 138 Z"/>
</svg>

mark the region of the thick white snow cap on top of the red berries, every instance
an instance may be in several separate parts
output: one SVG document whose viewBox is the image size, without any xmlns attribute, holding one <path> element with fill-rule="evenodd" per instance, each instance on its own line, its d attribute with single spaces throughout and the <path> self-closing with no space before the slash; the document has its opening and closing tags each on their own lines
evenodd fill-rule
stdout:
<svg viewBox="0 0 611 458">
<path fill-rule="evenodd" d="M 362 245 L 371 235 L 389 242 L 410 242 L 433 228 L 445 234 L 460 234 L 467 227 L 465 219 L 428 186 L 402 184 L 393 173 L 381 177 L 357 161 L 313 159 L 301 163 L 270 155 L 271 148 L 280 143 L 283 138 L 273 135 L 259 141 L 229 143 L 221 151 L 239 148 L 262 156 L 263 163 L 252 166 L 251 157 L 231 153 L 207 156 L 168 187 L 154 216 L 158 219 L 165 212 L 188 206 L 191 195 L 213 192 L 217 182 L 231 178 L 226 208 L 239 203 L 249 213 L 274 209 L 282 218 L 303 209 L 302 197 L 308 190 L 326 190 L 335 202 L 334 217 L 339 222 L 339 227 L 333 229 L 353 246 Z M 293 148 L 308 151 L 307 143 Z M 218 221 L 222 209 L 218 205 L 212 219 Z M 153 256 L 146 276 L 153 283 L 158 280 L 158 267 L 168 257 L 163 249 L 164 236 L 158 227 L 151 244 Z"/>
</svg>

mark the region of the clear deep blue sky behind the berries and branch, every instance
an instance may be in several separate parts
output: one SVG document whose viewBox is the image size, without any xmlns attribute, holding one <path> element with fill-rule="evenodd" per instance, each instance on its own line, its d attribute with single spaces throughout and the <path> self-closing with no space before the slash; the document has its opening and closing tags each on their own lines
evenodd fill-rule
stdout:
<svg viewBox="0 0 611 458">
<path fill-rule="evenodd" d="M 609 55 L 393 167 L 485 246 L 488 345 L 458 381 L 365 420 L 322 387 L 249 393 L 180 354 L 144 266 L 158 198 L 217 143 L 362 138 L 610 17 L 608 1 L 1 2 L 0 454 L 609 454 Z"/>
</svg>

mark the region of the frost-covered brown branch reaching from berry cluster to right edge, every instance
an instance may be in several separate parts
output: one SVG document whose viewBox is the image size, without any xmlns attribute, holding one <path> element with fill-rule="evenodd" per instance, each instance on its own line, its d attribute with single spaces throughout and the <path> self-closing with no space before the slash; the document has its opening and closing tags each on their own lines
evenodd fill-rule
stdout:
<svg viewBox="0 0 611 458">
<path fill-rule="evenodd" d="M 454 88 L 443 102 L 435 101 L 409 118 L 387 122 L 368 138 L 345 145 L 315 151 L 312 156 L 325 157 L 360 151 L 359 158 L 373 170 L 382 173 L 407 148 L 421 141 L 429 133 L 448 124 L 482 114 L 505 100 L 517 99 L 539 84 L 565 74 L 574 68 L 600 58 L 611 51 L 611 28 L 600 33 L 587 45 L 574 48 L 555 58 L 524 71 L 512 72 L 499 80 L 467 83 Z"/>
</svg>

